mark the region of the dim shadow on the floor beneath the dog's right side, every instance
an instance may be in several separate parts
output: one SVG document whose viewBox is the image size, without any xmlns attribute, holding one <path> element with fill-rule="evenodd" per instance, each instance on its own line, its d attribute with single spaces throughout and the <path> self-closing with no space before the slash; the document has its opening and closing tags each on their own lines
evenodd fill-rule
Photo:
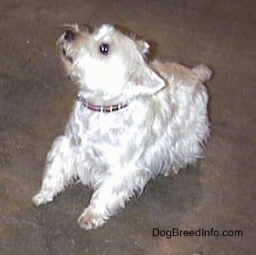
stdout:
<svg viewBox="0 0 256 255">
<path fill-rule="evenodd" d="M 136 228 L 178 228 L 189 217 L 202 197 L 200 169 L 187 167 L 173 177 L 158 176 L 151 180 L 142 195 L 117 217 L 137 221 Z M 146 227 L 147 226 L 147 227 Z"/>
</svg>

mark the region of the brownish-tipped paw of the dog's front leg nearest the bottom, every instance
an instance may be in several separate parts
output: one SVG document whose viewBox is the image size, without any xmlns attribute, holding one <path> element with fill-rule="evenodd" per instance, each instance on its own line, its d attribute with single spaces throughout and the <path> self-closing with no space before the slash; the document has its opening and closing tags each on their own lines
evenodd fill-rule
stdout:
<svg viewBox="0 0 256 255">
<path fill-rule="evenodd" d="M 84 213 L 78 218 L 78 224 L 81 228 L 86 230 L 96 229 L 105 223 L 105 219 L 102 215 L 97 214 L 96 211 L 90 207 L 86 208 Z"/>
</svg>

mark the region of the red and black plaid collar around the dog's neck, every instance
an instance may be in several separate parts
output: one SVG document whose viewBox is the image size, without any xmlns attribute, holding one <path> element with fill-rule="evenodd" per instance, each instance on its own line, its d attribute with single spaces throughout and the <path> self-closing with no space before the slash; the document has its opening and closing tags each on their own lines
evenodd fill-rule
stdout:
<svg viewBox="0 0 256 255">
<path fill-rule="evenodd" d="M 78 94 L 78 101 L 82 103 L 83 106 L 88 108 L 89 110 L 93 110 L 96 112 L 101 112 L 101 113 L 112 113 L 117 110 L 121 110 L 124 107 L 128 106 L 128 103 L 118 103 L 117 105 L 110 105 L 110 106 L 97 106 L 93 105 L 90 102 L 87 102 L 84 97 Z"/>
</svg>

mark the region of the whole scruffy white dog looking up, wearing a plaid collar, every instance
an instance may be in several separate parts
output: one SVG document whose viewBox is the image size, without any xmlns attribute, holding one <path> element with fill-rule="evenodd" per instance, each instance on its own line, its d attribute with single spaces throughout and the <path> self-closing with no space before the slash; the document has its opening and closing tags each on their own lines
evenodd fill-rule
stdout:
<svg viewBox="0 0 256 255">
<path fill-rule="evenodd" d="M 207 66 L 146 63 L 150 46 L 104 24 L 72 26 L 58 41 L 63 66 L 78 84 L 64 135 L 47 156 L 36 205 L 52 201 L 75 179 L 94 189 L 78 218 L 102 225 L 147 181 L 202 157 L 209 135 Z"/>
</svg>

